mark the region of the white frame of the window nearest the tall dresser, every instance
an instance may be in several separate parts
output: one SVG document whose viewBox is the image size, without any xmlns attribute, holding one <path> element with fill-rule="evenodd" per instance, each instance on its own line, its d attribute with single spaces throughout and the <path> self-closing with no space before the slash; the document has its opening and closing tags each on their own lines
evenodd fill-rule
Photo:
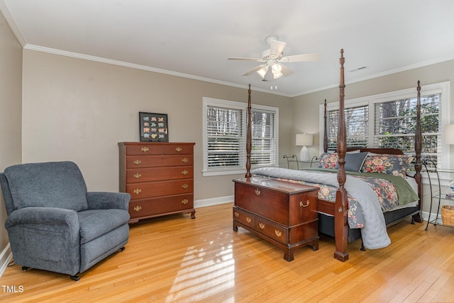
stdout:
<svg viewBox="0 0 454 303">
<path fill-rule="evenodd" d="M 244 146 L 244 157 L 240 158 L 240 161 L 243 161 L 243 165 L 241 168 L 233 167 L 233 168 L 209 168 L 208 167 L 208 137 L 206 136 L 206 109 L 208 106 L 218 106 L 218 107 L 223 107 L 223 108 L 232 108 L 232 109 L 240 109 L 243 110 L 243 123 L 242 123 L 242 133 L 243 133 L 243 142 Z M 260 167 L 260 166 L 278 166 L 279 163 L 279 108 L 275 108 L 272 106 L 267 106 L 267 105 L 258 105 L 258 104 L 253 104 L 251 105 L 251 108 L 254 110 L 267 110 L 270 112 L 275 113 L 275 163 L 274 164 L 262 164 L 262 165 L 252 165 L 252 168 Z M 228 100 L 221 100 L 221 99 L 216 99 L 216 98 L 209 98 L 209 97 L 203 97 L 203 105 L 202 105 L 202 110 L 203 110 L 203 161 L 204 161 L 204 166 L 203 166 L 203 171 L 202 171 L 202 176 L 222 176 L 222 175 L 234 175 L 238 173 L 245 173 L 246 172 L 246 136 L 247 136 L 247 122 L 248 122 L 248 104 L 247 103 L 242 103 L 242 102 L 237 102 L 237 101 L 228 101 Z"/>
</svg>

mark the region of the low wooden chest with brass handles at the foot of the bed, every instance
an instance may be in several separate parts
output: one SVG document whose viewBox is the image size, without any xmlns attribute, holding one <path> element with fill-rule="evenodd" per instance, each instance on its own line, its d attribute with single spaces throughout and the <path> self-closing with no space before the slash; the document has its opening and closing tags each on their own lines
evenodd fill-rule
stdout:
<svg viewBox="0 0 454 303">
<path fill-rule="evenodd" d="M 301 246 L 319 249 L 319 188 L 271 178 L 233 181 L 233 231 L 243 227 L 275 244 L 287 261 L 294 259 L 294 251 Z"/>
</svg>

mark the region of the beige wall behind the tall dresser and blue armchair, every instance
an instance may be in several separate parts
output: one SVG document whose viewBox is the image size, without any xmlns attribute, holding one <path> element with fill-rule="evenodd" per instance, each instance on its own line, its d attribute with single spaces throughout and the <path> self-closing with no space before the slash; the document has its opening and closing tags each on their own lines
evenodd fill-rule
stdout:
<svg viewBox="0 0 454 303">
<path fill-rule="evenodd" d="M 71 160 L 89 190 L 118 191 L 117 142 L 139 140 L 139 111 L 167 113 L 170 141 L 196 143 L 194 200 L 231 196 L 240 175 L 201 176 L 203 97 L 247 102 L 248 91 L 24 50 L 23 162 Z M 252 98 L 279 107 L 279 150 L 286 152 L 290 98 L 255 91 Z"/>
</svg>

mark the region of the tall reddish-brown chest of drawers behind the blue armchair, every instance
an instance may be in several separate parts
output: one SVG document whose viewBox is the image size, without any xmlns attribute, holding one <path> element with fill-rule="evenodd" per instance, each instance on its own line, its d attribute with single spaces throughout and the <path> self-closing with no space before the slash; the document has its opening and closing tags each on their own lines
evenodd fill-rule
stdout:
<svg viewBox="0 0 454 303">
<path fill-rule="evenodd" d="M 131 194 L 130 223 L 194 210 L 194 143 L 119 142 L 120 191 Z"/>
</svg>

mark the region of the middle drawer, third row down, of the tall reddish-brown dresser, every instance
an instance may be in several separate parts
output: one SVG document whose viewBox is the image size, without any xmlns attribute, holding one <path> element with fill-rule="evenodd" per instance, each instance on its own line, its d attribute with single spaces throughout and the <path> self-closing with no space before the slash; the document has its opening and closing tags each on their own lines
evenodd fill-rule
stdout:
<svg viewBox="0 0 454 303">
<path fill-rule="evenodd" d="M 131 168 L 126 171 L 126 183 L 192 178 L 194 178 L 194 169 L 187 166 Z"/>
</svg>

